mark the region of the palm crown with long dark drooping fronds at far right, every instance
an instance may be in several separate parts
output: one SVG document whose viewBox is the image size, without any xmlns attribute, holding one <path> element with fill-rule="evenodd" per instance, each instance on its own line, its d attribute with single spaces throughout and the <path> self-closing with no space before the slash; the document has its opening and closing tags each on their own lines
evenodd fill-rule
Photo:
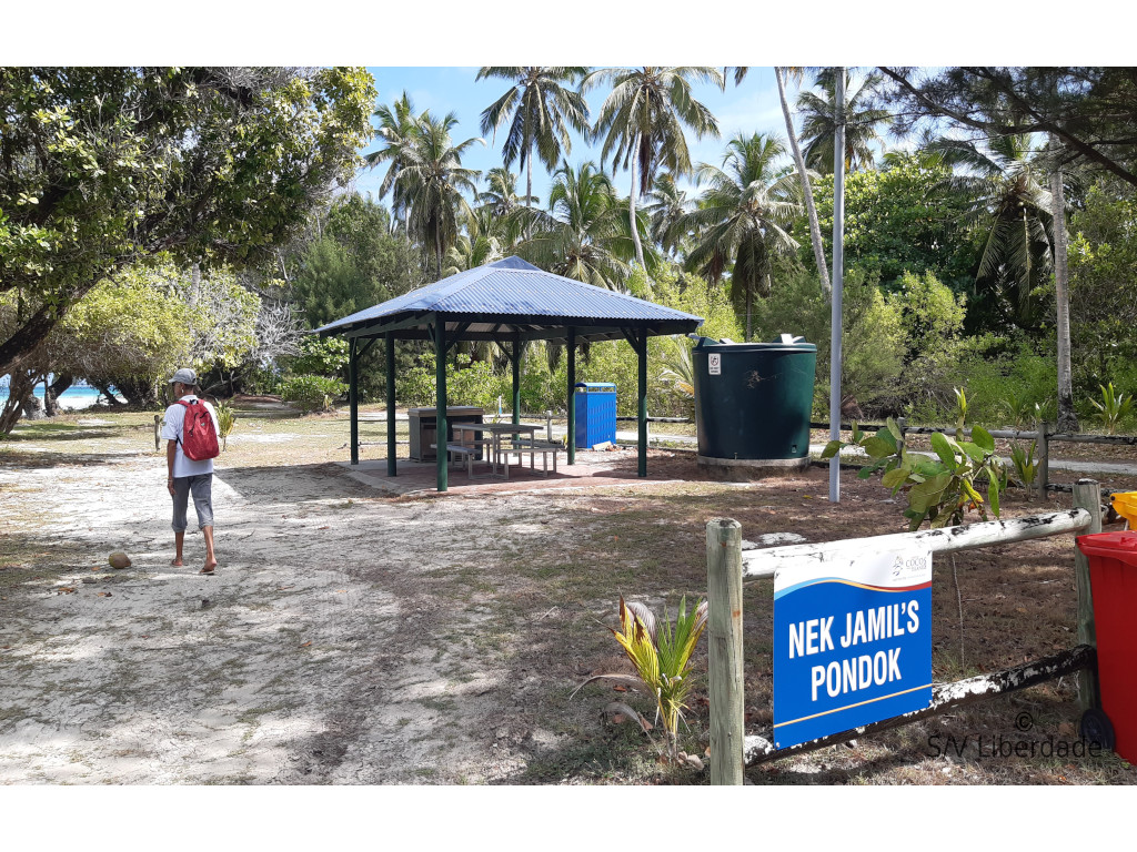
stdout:
<svg viewBox="0 0 1137 852">
<path fill-rule="evenodd" d="M 927 147 L 956 168 L 956 182 L 974 199 L 969 224 L 984 241 L 977 287 L 989 290 L 1004 316 L 1024 328 L 1037 328 L 1044 319 L 1035 290 L 1054 268 L 1048 173 L 1032 144 L 1031 136 L 1023 134 L 999 136 L 982 148 L 957 139 Z"/>
</svg>

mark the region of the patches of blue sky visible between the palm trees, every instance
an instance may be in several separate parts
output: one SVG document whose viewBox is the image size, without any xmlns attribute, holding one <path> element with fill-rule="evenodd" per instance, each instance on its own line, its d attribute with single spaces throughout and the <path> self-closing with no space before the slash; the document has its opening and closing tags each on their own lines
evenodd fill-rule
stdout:
<svg viewBox="0 0 1137 852">
<path fill-rule="evenodd" d="M 479 125 L 482 110 L 501 97 L 508 87 L 508 81 L 504 80 L 475 82 L 476 67 L 370 67 L 368 70 L 375 77 L 380 103 L 391 103 L 406 91 L 416 110 L 430 109 L 435 115 L 455 112 L 458 116 L 458 125 L 453 132 L 456 142 L 481 135 Z M 603 87 L 589 93 L 588 101 L 594 116 L 606 94 Z M 782 137 L 786 135 L 773 68 L 752 68 L 740 86 L 736 87 L 731 81 L 727 84 L 725 92 L 720 91 L 716 85 L 696 84 L 694 94 L 714 112 L 721 131 L 720 139 L 696 140 L 694 134 L 688 134 L 691 160 L 696 164 L 720 165 L 727 141 L 739 132 L 777 133 Z M 791 85 L 787 94 L 792 105 L 796 87 Z M 468 156 L 463 158 L 462 165 L 483 173 L 500 166 L 503 142 L 499 135 L 496 144 L 490 137 L 487 137 L 484 147 L 475 143 L 470 149 Z M 374 140 L 363 150 L 368 152 L 381 147 L 381 143 Z M 599 145 L 590 148 L 580 136 L 573 137 L 572 153 L 568 157 L 573 165 L 588 159 L 599 160 Z M 516 162 L 512 169 L 520 175 L 518 189 L 524 192 L 524 173 Z M 362 193 L 372 192 L 377 197 L 379 185 L 385 170 L 385 164 L 375 169 L 360 170 L 356 189 Z M 546 174 L 545 167 L 534 161 L 533 194 L 539 197 L 542 206 L 548 199 L 549 182 L 550 177 Z M 628 173 L 617 173 L 615 183 L 621 192 L 626 193 L 630 189 Z"/>
</svg>

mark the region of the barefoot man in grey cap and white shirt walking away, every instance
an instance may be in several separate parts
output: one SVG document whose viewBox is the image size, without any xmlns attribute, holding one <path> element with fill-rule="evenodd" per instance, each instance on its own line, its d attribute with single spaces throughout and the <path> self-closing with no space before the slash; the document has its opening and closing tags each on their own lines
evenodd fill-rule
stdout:
<svg viewBox="0 0 1137 852">
<path fill-rule="evenodd" d="M 166 487 L 174 498 L 174 545 L 176 556 L 171 562 L 181 566 L 182 544 L 185 541 L 185 510 L 193 495 L 193 508 L 198 513 L 198 527 L 206 540 L 206 563 L 200 574 L 213 574 L 217 568 L 213 544 L 213 459 L 194 461 L 183 449 L 186 412 L 196 406 L 205 406 L 213 419 L 214 435 L 221 434 L 217 412 L 205 400 L 198 399 L 198 375 L 191 369 L 180 369 L 169 379 L 176 402 L 166 409 L 161 436 L 166 444 Z"/>
</svg>

